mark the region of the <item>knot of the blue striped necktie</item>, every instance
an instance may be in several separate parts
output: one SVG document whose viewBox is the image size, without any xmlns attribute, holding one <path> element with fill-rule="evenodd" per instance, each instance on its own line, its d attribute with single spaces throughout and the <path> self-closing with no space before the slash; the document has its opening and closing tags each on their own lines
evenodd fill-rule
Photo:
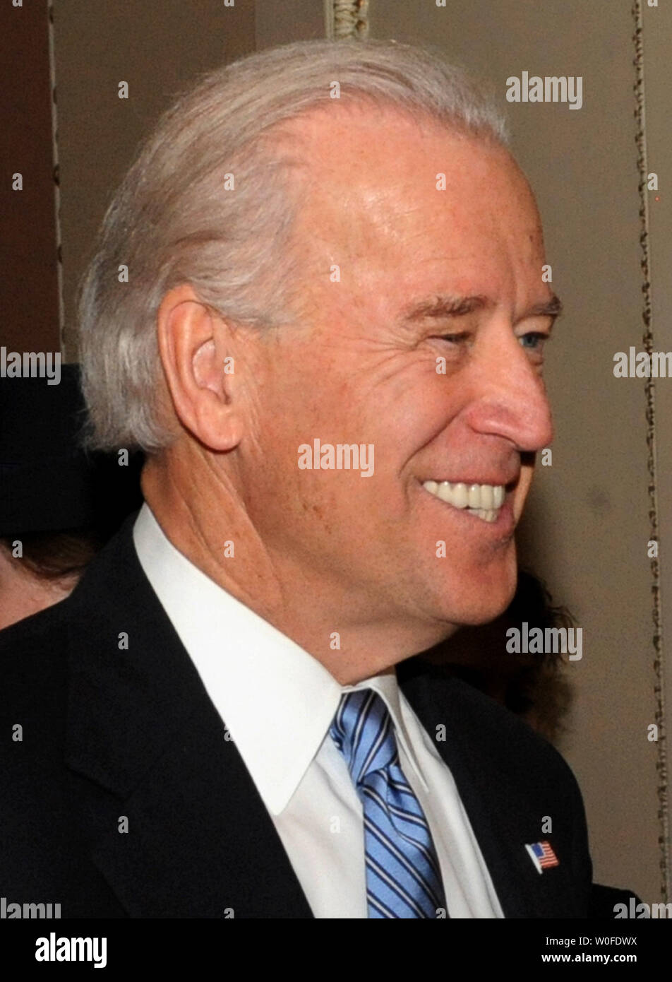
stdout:
<svg viewBox="0 0 672 982">
<path fill-rule="evenodd" d="M 398 762 L 394 728 L 385 701 L 372 688 L 343 695 L 331 735 L 355 785 Z"/>
</svg>

